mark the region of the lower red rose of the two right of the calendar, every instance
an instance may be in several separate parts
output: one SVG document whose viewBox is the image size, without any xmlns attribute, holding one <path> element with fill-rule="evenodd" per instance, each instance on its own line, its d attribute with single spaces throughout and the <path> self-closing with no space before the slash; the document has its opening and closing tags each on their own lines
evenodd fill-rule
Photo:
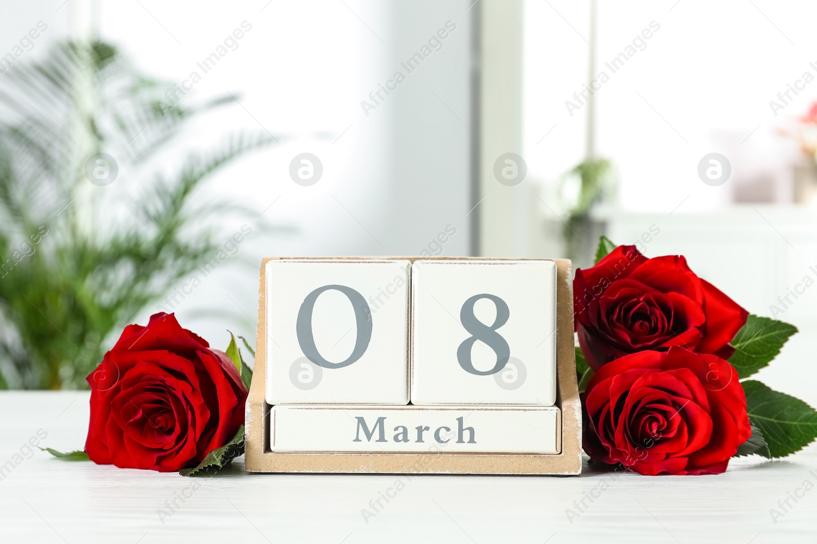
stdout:
<svg viewBox="0 0 817 544">
<path fill-rule="evenodd" d="M 582 396 L 587 455 L 645 475 L 720 474 L 752 435 L 737 370 L 683 347 L 611 361 Z"/>
</svg>

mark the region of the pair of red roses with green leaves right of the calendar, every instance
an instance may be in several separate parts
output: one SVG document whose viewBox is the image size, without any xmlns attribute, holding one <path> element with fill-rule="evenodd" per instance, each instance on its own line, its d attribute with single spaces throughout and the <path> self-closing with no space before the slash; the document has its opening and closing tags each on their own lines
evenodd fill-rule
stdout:
<svg viewBox="0 0 817 544">
<path fill-rule="evenodd" d="M 679 255 L 647 259 L 602 237 L 574 278 L 583 449 L 645 475 L 719 474 L 817 436 L 817 412 L 748 380 L 797 329 L 743 307 Z"/>
</svg>

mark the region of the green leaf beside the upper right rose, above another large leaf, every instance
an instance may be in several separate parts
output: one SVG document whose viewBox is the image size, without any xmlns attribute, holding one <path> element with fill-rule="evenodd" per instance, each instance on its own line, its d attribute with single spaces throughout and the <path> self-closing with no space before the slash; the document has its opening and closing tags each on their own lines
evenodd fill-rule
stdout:
<svg viewBox="0 0 817 544">
<path fill-rule="evenodd" d="M 748 378 L 768 365 L 788 337 L 796 332 L 794 325 L 749 314 L 746 325 L 732 338 L 735 351 L 729 362 L 741 379 Z"/>
</svg>

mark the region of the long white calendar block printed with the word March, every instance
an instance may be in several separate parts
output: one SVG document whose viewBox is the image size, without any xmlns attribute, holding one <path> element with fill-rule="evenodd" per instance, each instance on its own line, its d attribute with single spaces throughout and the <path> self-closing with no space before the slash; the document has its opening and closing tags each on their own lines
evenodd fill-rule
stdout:
<svg viewBox="0 0 817 544">
<path fill-rule="evenodd" d="M 551 407 L 278 405 L 274 452 L 560 452 L 560 412 Z"/>
</svg>

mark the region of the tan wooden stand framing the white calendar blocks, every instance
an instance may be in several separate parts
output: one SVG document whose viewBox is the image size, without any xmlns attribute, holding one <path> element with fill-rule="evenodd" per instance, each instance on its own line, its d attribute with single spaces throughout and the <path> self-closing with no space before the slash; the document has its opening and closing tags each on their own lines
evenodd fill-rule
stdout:
<svg viewBox="0 0 817 544">
<path fill-rule="evenodd" d="M 576 475 L 582 470 L 582 407 L 574 352 L 573 288 L 569 259 L 556 263 L 556 406 L 561 409 L 560 453 L 274 453 L 270 451 L 270 405 L 266 403 L 266 263 L 261 263 L 255 371 L 246 413 L 246 460 L 250 472 Z M 417 260 L 417 257 L 400 259 Z M 456 259 L 455 260 L 465 260 Z M 480 258 L 480 260 L 486 260 Z M 493 260 L 493 259 L 491 259 Z M 500 260 L 500 259 L 497 259 Z"/>
</svg>

